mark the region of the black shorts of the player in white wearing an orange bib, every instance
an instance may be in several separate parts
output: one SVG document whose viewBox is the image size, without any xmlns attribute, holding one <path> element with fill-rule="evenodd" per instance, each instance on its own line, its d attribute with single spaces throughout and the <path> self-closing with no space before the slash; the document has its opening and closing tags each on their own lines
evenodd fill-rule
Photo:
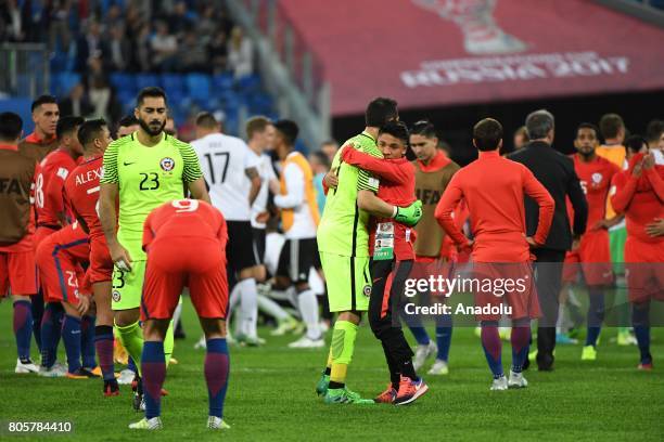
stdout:
<svg viewBox="0 0 664 442">
<path fill-rule="evenodd" d="M 321 268 L 316 238 L 286 239 L 279 253 L 277 276 L 290 277 L 292 283 L 306 283 L 311 268 Z"/>
</svg>

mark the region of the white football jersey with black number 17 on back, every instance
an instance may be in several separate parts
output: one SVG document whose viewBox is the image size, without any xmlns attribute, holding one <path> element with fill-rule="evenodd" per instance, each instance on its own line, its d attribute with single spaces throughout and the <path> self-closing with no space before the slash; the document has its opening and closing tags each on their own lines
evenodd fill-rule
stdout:
<svg viewBox="0 0 664 442">
<path fill-rule="evenodd" d="M 239 138 L 212 133 L 194 140 L 209 198 L 227 221 L 250 221 L 252 182 L 246 169 L 258 166 L 257 156 Z"/>
</svg>

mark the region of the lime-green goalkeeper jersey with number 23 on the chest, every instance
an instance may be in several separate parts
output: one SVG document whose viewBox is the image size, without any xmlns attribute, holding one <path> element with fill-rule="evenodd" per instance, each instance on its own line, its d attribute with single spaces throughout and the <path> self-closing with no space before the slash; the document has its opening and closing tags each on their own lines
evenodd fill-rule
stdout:
<svg viewBox="0 0 664 442">
<path fill-rule="evenodd" d="M 143 222 L 152 209 L 182 199 L 184 184 L 203 177 L 193 147 L 166 133 L 148 147 L 137 132 L 115 140 L 104 153 L 101 183 L 114 183 L 119 192 L 117 238 L 133 261 L 145 260 Z"/>
</svg>

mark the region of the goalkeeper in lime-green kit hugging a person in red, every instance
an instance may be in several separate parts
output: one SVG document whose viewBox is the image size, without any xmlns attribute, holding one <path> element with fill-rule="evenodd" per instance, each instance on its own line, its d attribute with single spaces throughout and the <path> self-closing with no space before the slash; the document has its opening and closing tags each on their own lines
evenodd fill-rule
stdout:
<svg viewBox="0 0 664 442">
<path fill-rule="evenodd" d="M 345 146 L 382 158 L 376 146 L 379 129 L 398 120 L 397 103 L 379 98 L 367 106 L 366 129 L 344 143 Z M 329 404 L 372 404 L 345 386 L 346 372 L 353 359 L 357 327 L 362 312 L 369 308 L 372 280 L 369 273 L 370 216 L 394 218 L 397 222 L 414 225 L 422 216 L 422 203 L 396 207 L 375 194 L 379 180 L 369 172 L 341 160 L 340 148 L 332 161 L 331 172 L 337 183 L 330 188 L 318 225 L 317 239 L 320 261 L 325 275 L 330 311 L 337 312 L 328 364 L 316 391 Z"/>
</svg>

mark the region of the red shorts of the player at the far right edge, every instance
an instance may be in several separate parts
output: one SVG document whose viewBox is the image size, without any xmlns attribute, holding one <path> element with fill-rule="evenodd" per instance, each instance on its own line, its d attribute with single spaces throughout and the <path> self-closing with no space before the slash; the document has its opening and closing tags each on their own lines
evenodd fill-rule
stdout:
<svg viewBox="0 0 664 442">
<path fill-rule="evenodd" d="M 629 302 L 664 301 L 664 242 L 644 243 L 627 236 L 625 277 Z"/>
</svg>

